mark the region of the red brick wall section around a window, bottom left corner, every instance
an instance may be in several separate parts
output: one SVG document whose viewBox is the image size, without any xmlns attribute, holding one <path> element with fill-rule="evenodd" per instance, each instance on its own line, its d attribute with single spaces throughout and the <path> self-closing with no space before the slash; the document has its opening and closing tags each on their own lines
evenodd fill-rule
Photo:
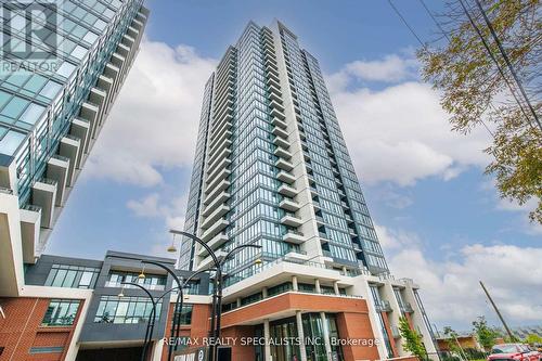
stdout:
<svg viewBox="0 0 542 361">
<path fill-rule="evenodd" d="M 0 347 L 4 347 L 0 361 L 62 361 L 65 359 L 75 325 L 79 320 L 83 301 L 74 325 L 68 327 L 42 327 L 50 299 L 0 298 L 5 319 L 0 318 Z M 60 353 L 30 354 L 30 347 L 63 347 Z"/>
</svg>

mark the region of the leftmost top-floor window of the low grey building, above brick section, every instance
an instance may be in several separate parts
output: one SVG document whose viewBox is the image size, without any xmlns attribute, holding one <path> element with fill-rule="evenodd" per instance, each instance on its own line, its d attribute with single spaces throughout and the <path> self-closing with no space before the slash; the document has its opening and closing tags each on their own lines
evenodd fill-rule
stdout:
<svg viewBox="0 0 542 361">
<path fill-rule="evenodd" d="M 93 267 L 53 265 L 46 286 L 67 288 L 93 288 L 100 269 Z"/>
</svg>

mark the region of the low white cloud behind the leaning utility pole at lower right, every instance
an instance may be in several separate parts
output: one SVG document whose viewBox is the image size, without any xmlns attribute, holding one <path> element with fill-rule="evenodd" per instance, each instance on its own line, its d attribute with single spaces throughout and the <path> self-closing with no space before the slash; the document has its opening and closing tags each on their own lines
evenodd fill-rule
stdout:
<svg viewBox="0 0 542 361">
<path fill-rule="evenodd" d="M 479 281 L 483 281 L 512 324 L 542 320 L 542 248 L 474 244 L 453 249 L 453 258 L 424 256 L 416 235 L 377 228 L 393 274 L 415 280 L 431 321 L 468 328 L 478 315 L 493 320 Z M 450 250 L 449 250 L 450 252 Z"/>
</svg>

